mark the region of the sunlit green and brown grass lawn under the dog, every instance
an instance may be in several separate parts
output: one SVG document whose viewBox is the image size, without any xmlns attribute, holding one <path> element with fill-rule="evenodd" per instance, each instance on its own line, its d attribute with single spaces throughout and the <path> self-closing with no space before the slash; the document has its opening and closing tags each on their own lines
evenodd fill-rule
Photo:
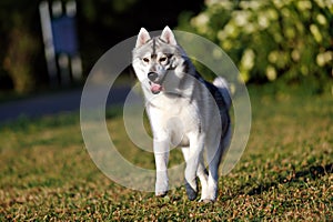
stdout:
<svg viewBox="0 0 333 222">
<path fill-rule="evenodd" d="M 165 198 L 109 180 L 84 149 L 79 113 L 0 125 L 0 221 L 333 220 L 333 97 L 250 88 L 252 130 L 244 154 L 220 179 L 213 204 L 190 202 L 184 188 Z M 108 112 L 119 151 L 154 167 Z M 121 145 L 120 145 L 121 144 Z M 180 152 L 171 153 L 171 164 Z"/>
</svg>

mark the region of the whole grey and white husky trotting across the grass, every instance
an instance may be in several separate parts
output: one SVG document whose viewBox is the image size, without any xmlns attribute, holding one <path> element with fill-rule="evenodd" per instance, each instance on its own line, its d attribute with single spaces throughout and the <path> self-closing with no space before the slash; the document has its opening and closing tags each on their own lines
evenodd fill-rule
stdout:
<svg viewBox="0 0 333 222">
<path fill-rule="evenodd" d="M 132 59 L 153 132 L 155 195 L 168 192 L 169 152 L 174 145 L 182 148 L 186 162 L 189 200 L 198 196 L 198 176 L 202 188 L 200 201 L 215 201 L 219 164 L 231 139 L 226 81 L 221 77 L 213 83 L 205 81 L 169 27 L 153 38 L 141 28 Z"/>
</svg>

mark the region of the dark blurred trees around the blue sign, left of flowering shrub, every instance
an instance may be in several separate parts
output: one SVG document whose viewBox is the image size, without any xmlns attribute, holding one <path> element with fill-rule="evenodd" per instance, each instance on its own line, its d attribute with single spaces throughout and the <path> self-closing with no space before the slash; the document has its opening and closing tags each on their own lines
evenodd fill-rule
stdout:
<svg viewBox="0 0 333 222">
<path fill-rule="evenodd" d="M 39 3 L 0 2 L 0 90 L 26 92 L 48 85 Z M 79 46 L 87 75 L 103 52 L 137 34 L 141 27 L 175 27 L 182 11 L 196 14 L 203 1 L 77 0 L 77 6 Z"/>
</svg>

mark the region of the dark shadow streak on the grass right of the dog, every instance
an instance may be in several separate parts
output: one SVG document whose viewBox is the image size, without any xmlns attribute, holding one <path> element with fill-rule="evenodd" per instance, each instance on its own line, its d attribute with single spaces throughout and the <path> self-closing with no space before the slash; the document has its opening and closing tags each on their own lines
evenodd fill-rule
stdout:
<svg viewBox="0 0 333 222">
<path fill-rule="evenodd" d="M 272 188 L 278 188 L 279 184 L 294 183 L 294 182 L 307 181 L 307 180 L 317 180 L 321 176 L 331 173 L 333 173 L 333 163 L 326 165 L 309 167 L 303 171 L 293 170 L 291 175 L 289 176 L 278 176 L 278 179 L 274 179 L 273 181 L 268 183 L 259 184 L 248 192 L 244 192 L 244 189 L 241 189 L 240 193 L 248 194 L 248 195 L 258 195 L 258 194 L 262 194 L 263 192 L 270 191 Z"/>
</svg>

